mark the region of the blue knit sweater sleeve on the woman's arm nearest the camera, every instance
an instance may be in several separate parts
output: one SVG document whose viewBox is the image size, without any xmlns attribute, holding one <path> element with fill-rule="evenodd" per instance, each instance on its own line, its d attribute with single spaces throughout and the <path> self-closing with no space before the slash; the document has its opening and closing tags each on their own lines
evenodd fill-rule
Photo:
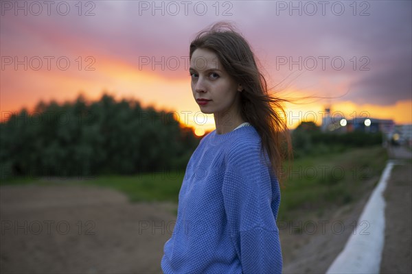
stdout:
<svg viewBox="0 0 412 274">
<path fill-rule="evenodd" d="M 276 225 L 280 197 L 273 197 L 279 193 L 273 188 L 278 188 L 277 180 L 261 162 L 260 149 L 238 146 L 228 154 L 222 195 L 231 241 L 244 274 L 282 273 Z"/>
</svg>

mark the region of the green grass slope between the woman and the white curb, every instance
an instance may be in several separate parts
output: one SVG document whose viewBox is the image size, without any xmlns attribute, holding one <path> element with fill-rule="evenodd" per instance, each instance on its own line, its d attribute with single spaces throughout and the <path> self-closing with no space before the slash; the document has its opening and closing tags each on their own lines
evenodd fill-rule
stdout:
<svg viewBox="0 0 412 274">
<path fill-rule="evenodd" d="M 378 182 L 386 162 L 382 147 L 296 160 L 282 188 L 279 220 L 293 219 L 294 210 L 321 210 L 355 201 Z"/>
</svg>

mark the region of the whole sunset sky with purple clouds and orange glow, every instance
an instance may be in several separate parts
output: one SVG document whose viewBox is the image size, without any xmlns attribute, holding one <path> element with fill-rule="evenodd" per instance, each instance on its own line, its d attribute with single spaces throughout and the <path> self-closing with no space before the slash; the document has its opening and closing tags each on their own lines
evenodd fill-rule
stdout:
<svg viewBox="0 0 412 274">
<path fill-rule="evenodd" d="M 38 101 L 117 99 L 214 129 L 192 96 L 190 40 L 231 21 L 289 125 L 332 113 L 412 123 L 411 1 L 1 1 L 1 119 Z M 331 99 L 316 99 L 331 97 Z M 315 115 L 316 116 L 315 116 Z"/>
</svg>

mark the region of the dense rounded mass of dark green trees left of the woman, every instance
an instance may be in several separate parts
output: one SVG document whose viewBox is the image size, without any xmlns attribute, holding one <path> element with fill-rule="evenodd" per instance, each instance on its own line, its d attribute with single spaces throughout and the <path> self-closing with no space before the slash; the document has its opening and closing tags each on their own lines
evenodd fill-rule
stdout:
<svg viewBox="0 0 412 274">
<path fill-rule="evenodd" d="M 0 124 L 1 177 L 184 169 L 198 142 L 171 112 L 139 101 L 41 101 L 34 112 L 23 109 Z"/>
</svg>

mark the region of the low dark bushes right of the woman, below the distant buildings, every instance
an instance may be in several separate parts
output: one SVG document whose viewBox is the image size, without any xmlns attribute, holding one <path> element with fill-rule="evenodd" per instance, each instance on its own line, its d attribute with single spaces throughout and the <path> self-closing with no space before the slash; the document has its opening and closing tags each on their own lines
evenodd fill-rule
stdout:
<svg viewBox="0 0 412 274">
<path fill-rule="evenodd" d="M 382 133 L 321 132 L 313 122 L 302 122 L 292 133 L 294 158 L 342 152 L 354 147 L 369 147 L 382 144 Z"/>
</svg>

